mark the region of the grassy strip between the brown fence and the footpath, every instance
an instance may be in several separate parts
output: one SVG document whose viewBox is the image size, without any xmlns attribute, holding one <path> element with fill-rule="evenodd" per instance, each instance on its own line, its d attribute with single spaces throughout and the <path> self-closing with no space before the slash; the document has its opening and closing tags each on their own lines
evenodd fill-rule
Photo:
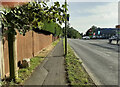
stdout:
<svg viewBox="0 0 120 87">
<path fill-rule="evenodd" d="M 38 56 L 35 56 L 30 59 L 30 67 L 28 68 L 21 68 L 18 70 L 18 78 L 16 78 L 16 81 L 9 81 L 4 80 L 1 82 L 2 86 L 6 87 L 12 87 L 13 85 L 23 85 L 24 81 L 31 76 L 33 71 L 36 69 L 38 65 L 40 65 L 45 57 L 51 52 L 51 50 L 57 45 L 57 43 L 60 41 L 60 39 L 54 41 L 51 45 L 44 48 Z"/>
</svg>

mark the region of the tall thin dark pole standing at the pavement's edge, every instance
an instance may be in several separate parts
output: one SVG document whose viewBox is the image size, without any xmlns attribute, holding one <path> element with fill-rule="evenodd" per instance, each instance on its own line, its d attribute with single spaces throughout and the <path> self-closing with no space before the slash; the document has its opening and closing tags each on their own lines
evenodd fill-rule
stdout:
<svg viewBox="0 0 120 87">
<path fill-rule="evenodd" d="M 65 0 L 65 56 L 67 55 L 67 0 Z"/>
</svg>

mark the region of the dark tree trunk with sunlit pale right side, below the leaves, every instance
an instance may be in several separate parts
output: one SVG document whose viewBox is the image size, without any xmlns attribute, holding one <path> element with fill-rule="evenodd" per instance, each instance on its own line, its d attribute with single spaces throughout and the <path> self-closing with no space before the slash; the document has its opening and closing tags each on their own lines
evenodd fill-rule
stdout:
<svg viewBox="0 0 120 87">
<path fill-rule="evenodd" d="M 17 43 L 14 33 L 8 33 L 10 79 L 15 81 L 17 70 Z"/>
</svg>

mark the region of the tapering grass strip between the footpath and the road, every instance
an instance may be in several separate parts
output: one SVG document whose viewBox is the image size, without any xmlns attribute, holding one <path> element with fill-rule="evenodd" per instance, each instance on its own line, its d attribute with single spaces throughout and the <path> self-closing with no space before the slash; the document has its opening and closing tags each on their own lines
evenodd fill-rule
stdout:
<svg viewBox="0 0 120 87">
<path fill-rule="evenodd" d="M 65 41 L 63 41 L 63 44 Z M 65 46 L 65 44 L 64 44 Z M 69 85 L 79 87 L 91 86 L 93 87 L 94 83 L 91 80 L 90 76 L 87 74 L 85 69 L 82 67 L 82 62 L 74 54 L 74 51 L 68 46 L 68 53 L 65 58 L 66 65 L 66 75 Z"/>
</svg>

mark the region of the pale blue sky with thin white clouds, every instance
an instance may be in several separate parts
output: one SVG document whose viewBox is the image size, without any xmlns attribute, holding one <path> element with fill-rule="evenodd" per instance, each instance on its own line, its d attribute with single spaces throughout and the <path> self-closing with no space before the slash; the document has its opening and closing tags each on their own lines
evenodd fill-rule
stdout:
<svg viewBox="0 0 120 87">
<path fill-rule="evenodd" d="M 51 0 L 62 1 L 65 0 Z M 118 24 L 119 0 L 67 0 L 70 26 L 85 33 L 93 25 L 100 28 L 115 28 Z"/>
</svg>

